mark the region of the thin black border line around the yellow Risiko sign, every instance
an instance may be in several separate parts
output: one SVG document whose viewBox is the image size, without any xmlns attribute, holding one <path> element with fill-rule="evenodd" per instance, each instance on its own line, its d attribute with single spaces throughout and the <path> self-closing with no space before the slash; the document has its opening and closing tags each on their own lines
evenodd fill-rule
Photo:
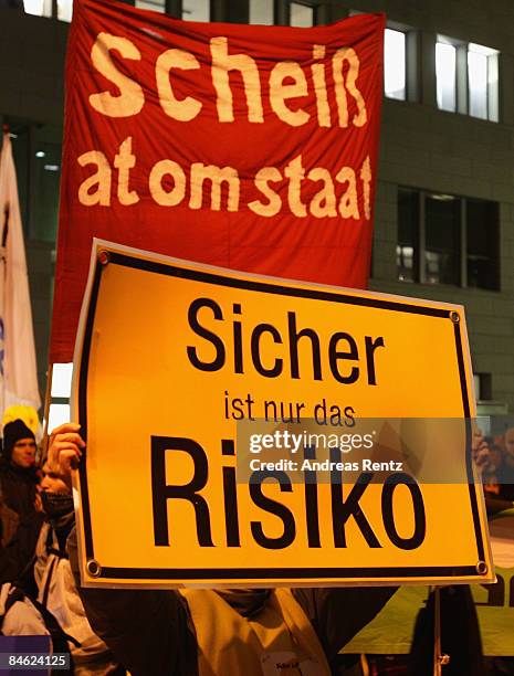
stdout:
<svg viewBox="0 0 514 676">
<path fill-rule="evenodd" d="M 251 279 L 239 279 L 235 277 L 224 276 L 221 273 L 208 271 L 197 271 L 187 267 L 179 267 L 157 261 L 148 261 L 145 258 L 136 258 L 117 252 L 108 252 L 108 265 L 123 265 L 136 270 L 145 270 L 147 272 L 180 277 L 183 279 L 193 279 L 197 282 L 206 282 L 219 286 L 231 286 L 234 288 L 244 288 L 249 291 L 263 291 L 269 294 L 280 294 L 282 296 L 300 296 L 303 298 L 314 298 L 318 300 L 332 300 L 347 305 L 359 305 L 365 307 L 376 307 L 380 309 L 389 309 L 401 313 L 410 313 L 416 315 L 427 315 L 431 317 L 440 317 L 450 319 L 450 309 L 438 307 L 421 307 L 409 303 L 398 303 L 395 300 L 386 300 L 381 298 L 355 297 L 344 293 L 338 294 L 328 289 L 319 288 L 295 288 L 291 286 L 281 286 L 279 283 L 260 282 Z M 93 331 L 93 320 L 96 311 L 96 302 L 102 279 L 104 265 L 96 263 L 95 276 L 91 289 L 90 306 L 87 309 L 87 318 L 84 331 L 84 344 L 81 356 L 80 381 L 78 381 L 78 415 L 82 423 L 82 434 L 84 440 L 87 437 L 87 365 L 90 360 L 91 339 Z M 466 424 L 466 444 L 469 446 L 471 439 L 470 430 L 470 406 L 468 401 L 468 387 L 465 382 L 464 356 L 462 352 L 462 339 L 460 332 L 460 324 L 454 324 L 455 351 L 459 366 L 459 376 L 462 393 L 463 414 L 468 421 Z M 85 454 L 84 454 L 85 455 Z M 473 525 L 478 538 L 479 560 L 484 560 L 484 543 L 482 540 L 482 531 L 480 529 L 479 506 L 473 483 L 470 480 L 473 476 L 471 466 L 471 454 L 466 457 L 468 483 L 470 488 L 471 509 L 473 515 Z M 82 508 L 84 519 L 84 540 L 85 553 L 87 559 L 94 559 L 93 535 L 91 525 L 90 495 L 87 492 L 87 476 L 85 464 L 81 463 L 78 468 Z M 188 568 L 188 569 L 167 569 L 167 568 L 102 568 L 97 580 L 99 579 L 125 579 L 125 580 L 246 580 L 249 578 L 258 578 L 262 580 L 272 579 L 339 579 L 339 578 L 366 578 L 375 577 L 387 580 L 389 578 L 426 578 L 426 577 L 468 577 L 476 575 L 475 566 L 457 566 L 457 567 L 415 567 L 415 568 L 245 568 L 245 569 L 213 569 L 213 568 Z"/>
</svg>

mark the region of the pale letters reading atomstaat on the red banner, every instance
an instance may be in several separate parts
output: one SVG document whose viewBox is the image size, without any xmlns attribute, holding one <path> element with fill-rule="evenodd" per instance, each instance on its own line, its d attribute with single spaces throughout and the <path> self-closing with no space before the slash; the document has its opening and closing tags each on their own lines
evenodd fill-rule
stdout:
<svg viewBox="0 0 514 676">
<path fill-rule="evenodd" d="M 84 207 L 96 204 L 111 207 L 114 199 L 124 207 L 139 202 L 139 194 L 130 188 L 130 170 L 137 162 L 132 150 L 130 136 L 119 145 L 114 157 L 114 169 L 117 169 L 115 196 L 112 194 L 113 168 L 103 152 L 99 150 L 84 152 L 77 161 L 81 167 L 88 165 L 94 167 L 94 171 L 78 187 L 78 201 Z M 275 189 L 270 183 L 284 181 L 285 194 L 282 197 L 279 187 Z M 308 189 L 308 183 L 313 182 L 321 183 L 319 189 L 306 201 L 305 188 Z M 189 194 L 189 209 L 207 208 L 211 211 L 240 211 L 240 183 L 239 172 L 233 167 L 193 162 L 189 171 L 186 171 L 171 159 L 156 162 L 148 177 L 149 193 L 157 204 L 178 207 Z M 298 155 L 285 166 L 283 171 L 277 167 L 260 169 L 253 183 L 261 198 L 249 202 L 246 208 L 264 218 L 272 218 L 284 209 L 296 218 L 310 215 L 316 219 L 365 218 L 367 221 L 371 218 L 369 156 L 358 171 L 352 167 L 342 167 L 333 179 L 331 172 L 323 167 L 313 167 L 307 171 L 303 166 L 302 155 Z M 363 204 L 364 213 L 359 209 L 359 203 Z"/>
</svg>

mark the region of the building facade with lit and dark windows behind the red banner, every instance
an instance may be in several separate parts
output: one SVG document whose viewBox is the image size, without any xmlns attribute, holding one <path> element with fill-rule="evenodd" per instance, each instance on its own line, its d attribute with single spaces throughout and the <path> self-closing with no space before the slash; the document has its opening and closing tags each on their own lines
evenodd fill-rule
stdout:
<svg viewBox="0 0 514 676">
<path fill-rule="evenodd" d="M 186 20 L 304 27 L 357 12 L 386 12 L 370 287 L 462 304 L 479 411 L 514 413 L 512 2 L 135 3 Z M 21 0 L 0 0 L 0 116 L 13 135 L 43 392 L 71 12 L 69 0 L 25 0 L 24 7 Z"/>
</svg>

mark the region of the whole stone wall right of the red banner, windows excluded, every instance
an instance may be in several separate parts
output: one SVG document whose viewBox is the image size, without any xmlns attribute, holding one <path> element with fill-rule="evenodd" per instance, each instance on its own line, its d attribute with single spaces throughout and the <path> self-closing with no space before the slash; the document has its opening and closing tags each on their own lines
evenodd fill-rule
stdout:
<svg viewBox="0 0 514 676">
<path fill-rule="evenodd" d="M 492 397 L 514 411 L 514 6 L 507 1 L 359 2 L 423 27 L 420 99 L 386 99 L 382 113 L 371 288 L 464 305 L 475 372 L 492 374 Z M 408 7 L 407 7 L 408 4 Z M 501 52 L 501 123 L 437 109 L 436 34 Z M 397 187 L 428 189 L 500 202 L 501 291 L 397 282 Z"/>
</svg>

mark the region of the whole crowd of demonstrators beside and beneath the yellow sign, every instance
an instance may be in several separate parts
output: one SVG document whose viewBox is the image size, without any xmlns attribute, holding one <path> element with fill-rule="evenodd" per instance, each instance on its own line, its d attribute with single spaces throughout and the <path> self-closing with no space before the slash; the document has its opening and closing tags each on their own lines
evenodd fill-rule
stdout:
<svg viewBox="0 0 514 676">
<path fill-rule="evenodd" d="M 0 457 L 0 631 L 45 634 L 69 652 L 71 673 L 132 676 L 400 676 L 432 673 L 431 615 L 402 658 L 339 655 L 395 592 L 384 588 L 297 590 L 81 589 L 71 477 L 84 442 L 78 425 L 52 434 L 40 464 L 27 420 L 3 426 Z M 479 439 L 487 509 L 513 506 L 514 429 Z M 453 590 L 453 591 L 452 591 Z M 443 590 L 454 614 L 443 635 L 452 676 L 514 675 L 508 658 L 484 661 L 466 588 Z M 424 609 L 430 610 L 430 601 Z M 424 624 L 423 624 L 424 623 Z M 443 645 L 444 647 L 444 645 Z M 122 666 L 123 665 L 123 666 Z"/>
</svg>

